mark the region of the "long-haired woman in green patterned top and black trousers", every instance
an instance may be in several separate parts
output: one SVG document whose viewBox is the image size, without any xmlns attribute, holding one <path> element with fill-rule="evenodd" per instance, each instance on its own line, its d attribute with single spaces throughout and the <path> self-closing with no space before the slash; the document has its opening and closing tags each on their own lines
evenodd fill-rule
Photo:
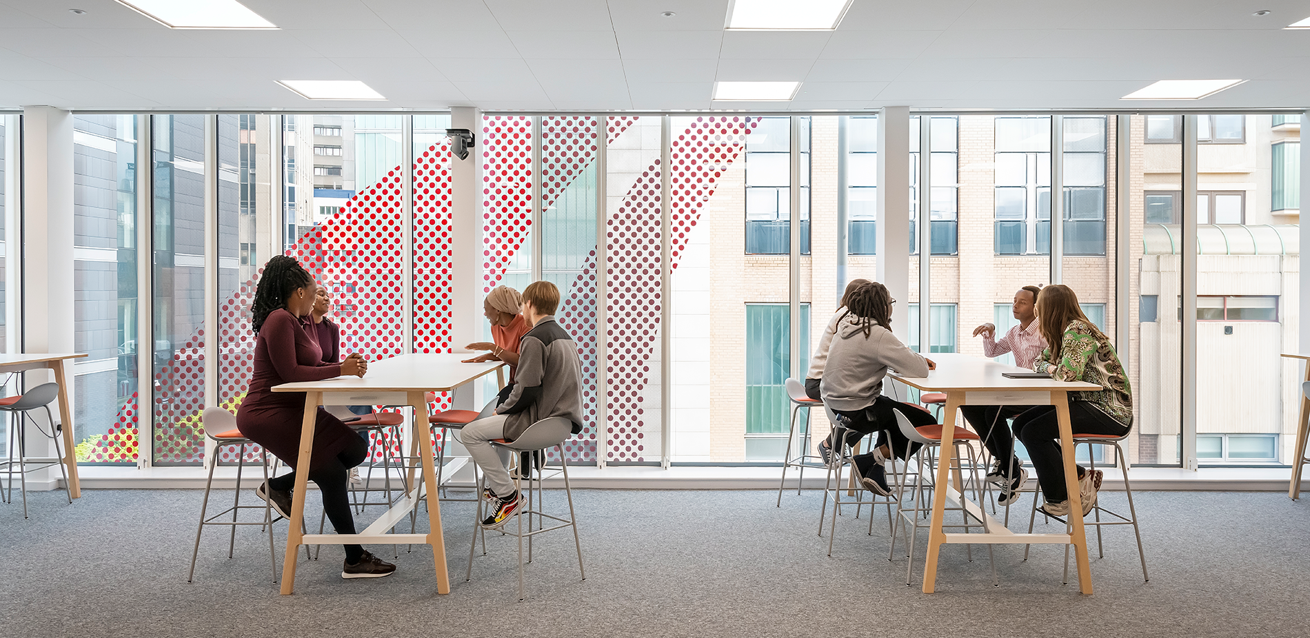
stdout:
<svg viewBox="0 0 1310 638">
<path fill-rule="evenodd" d="M 1115 346 L 1087 320 L 1078 296 L 1068 286 L 1047 286 L 1038 295 L 1038 322 L 1051 346 L 1032 362 L 1032 369 L 1060 381 L 1087 381 L 1099 390 L 1069 393 L 1069 421 L 1074 434 L 1123 436 L 1133 424 L 1133 390 L 1128 385 Z M 1038 483 L 1045 500 L 1041 510 L 1052 516 L 1069 514 L 1064 459 L 1060 455 L 1060 427 L 1051 405 L 1034 407 L 1014 418 L 1014 436 L 1023 441 L 1038 470 Z M 1082 515 L 1096 503 L 1100 470 L 1078 468 Z"/>
</svg>

